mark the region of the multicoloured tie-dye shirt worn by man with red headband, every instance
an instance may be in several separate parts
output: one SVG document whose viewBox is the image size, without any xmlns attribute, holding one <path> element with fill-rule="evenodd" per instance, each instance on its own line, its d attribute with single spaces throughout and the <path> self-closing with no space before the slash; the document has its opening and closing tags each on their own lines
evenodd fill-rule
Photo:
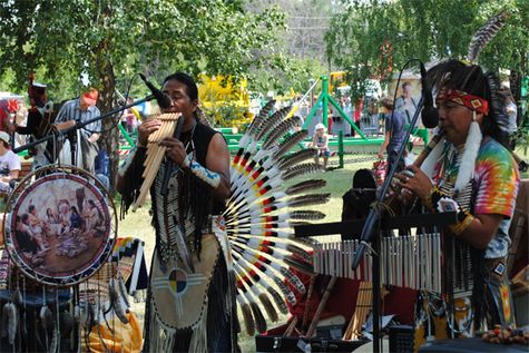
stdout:
<svg viewBox="0 0 529 353">
<path fill-rule="evenodd" d="M 454 183 L 457 168 L 445 173 L 447 180 Z M 518 166 L 507 148 L 492 138 L 484 138 L 476 159 L 473 179 L 476 199 L 472 214 L 503 216 L 497 234 L 487 246 L 484 257 L 503 257 L 509 249 L 509 226 L 520 184 Z"/>
</svg>

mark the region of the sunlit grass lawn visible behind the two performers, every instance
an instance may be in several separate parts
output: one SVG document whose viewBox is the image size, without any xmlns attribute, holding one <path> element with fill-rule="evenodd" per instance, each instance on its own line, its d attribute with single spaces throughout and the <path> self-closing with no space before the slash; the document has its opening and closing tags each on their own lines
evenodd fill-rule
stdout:
<svg viewBox="0 0 529 353">
<path fill-rule="evenodd" d="M 419 149 L 415 151 L 418 153 Z M 518 151 L 519 155 L 527 160 L 527 151 Z M 326 214 L 326 217 L 321 223 L 339 222 L 342 213 L 342 195 L 349 190 L 352 185 L 352 177 L 354 171 L 362 168 L 372 168 L 373 160 L 355 161 L 363 157 L 373 157 L 373 155 L 353 155 L 345 158 L 345 166 L 343 169 L 335 169 L 325 173 L 311 175 L 311 178 L 322 178 L 327 182 L 325 188 L 317 190 L 319 193 L 331 193 L 331 200 L 325 205 L 313 206 L 312 209 L 321 210 Z M 364 158 L 365 159 L 365 158 Z M 354 163 L 347 163 L 354 161 Z M 330 165 L 337 165 L 337 157 L 332 157 Z M 523 178 L 528 178 L 529 174 L 522 175 Z M 136 213 L 129 212 L 126 218 L 119 222 L 118 234 L 119 236 L 135 236 L 145 241 L 145 256 L 147 265 L 150 265 L 150 258 L 155 246 L 155 233 L 150 226 L 149 215 L 149 202 L 139 208 Z M 311 207 L 307 207 L 311 208 Z M 336 236 L 331 236 L 334 239 Z M 330 237 L 330 239 L 331 239 Z M 322 239 L 323 237 L 320 237 Z M 139 318 L 143 318 L 143 306 L 135 305 L 135 313 Z M 281 325 L 285 322 L 286 316 L 280 317 L 278 323 L 268 322 L 268 327 Z M 244 330 L 243 330 L 244 331 Z M 243 352 L 255 352 L 255 340 L 248 336 L 246 333 L 241 333 L 239 344 Z"/>
</svg>

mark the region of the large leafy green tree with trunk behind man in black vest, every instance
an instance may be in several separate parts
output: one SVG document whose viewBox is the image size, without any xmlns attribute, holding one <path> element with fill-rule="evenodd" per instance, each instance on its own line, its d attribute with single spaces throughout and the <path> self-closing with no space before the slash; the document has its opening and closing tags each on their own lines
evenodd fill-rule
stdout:
<svg viewBox="0 0 529 353">
<path fill-rule="evenodd" d="M 16 88 L 39 70 L 38 80 L 71 97 L 85 72 L 100 90 L 101 111 L 112 109 L 118 82 L 134 72 L 157 81 L 176 70 L 238 78 L 268 65 L 276 29 L 284 27 L 276 8 L 247 12 L 242 0 L 3 1 L 0 18 L 0 67 L 14 72 Z M 65 78 L 74 81 L 63 85 Z M 112 124 L 106 119 L 104 129 Z M 116 129 L 100 143 L 109 151 L 117 144 Z M 115 175 L 117 154 L 110 155 Z"/>
</svg>

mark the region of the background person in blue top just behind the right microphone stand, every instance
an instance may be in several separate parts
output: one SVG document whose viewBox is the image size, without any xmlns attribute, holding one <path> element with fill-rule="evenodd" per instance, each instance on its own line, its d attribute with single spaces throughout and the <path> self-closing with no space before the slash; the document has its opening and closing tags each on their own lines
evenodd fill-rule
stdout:
<svg viewBox="0 0 529 353">
<path fill-rule="evenodd" d="M 380 146 L 379 158 L 382 159 L 384 150 L 388 153 L 388 170 L 398 163 L 396 171 L 404 169 L 404 159 L 396 160 L 399 149 L 405 140 L 404 117 L 394 109 L 393 99 L 384 97 L 380 101 L 382 112 L 385 116 L 385 139 Z"/>
</svg>

